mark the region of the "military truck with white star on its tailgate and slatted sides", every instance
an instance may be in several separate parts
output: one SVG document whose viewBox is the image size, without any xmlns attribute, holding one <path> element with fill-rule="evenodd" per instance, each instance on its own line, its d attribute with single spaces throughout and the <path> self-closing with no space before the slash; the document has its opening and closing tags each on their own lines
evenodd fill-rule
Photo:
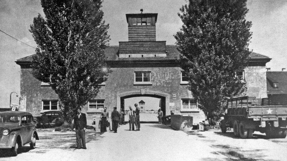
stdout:
<svg viewBox="0 0 287 161">
<path fill-rule="evenodd" d="M 287 101 L 271 98 L 236 97 L 228 99 L 227 111 L 220 127 L 233 128 L 234 136 L 252 138 L 254 131 L 268 138 L 285 138 L 287 134 Z"/>
</svg>

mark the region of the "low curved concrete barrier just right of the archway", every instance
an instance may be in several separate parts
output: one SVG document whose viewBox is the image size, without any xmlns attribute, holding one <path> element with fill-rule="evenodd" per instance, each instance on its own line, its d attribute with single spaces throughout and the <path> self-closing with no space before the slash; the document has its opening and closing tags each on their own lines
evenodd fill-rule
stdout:
<svg viewBox="0 0 287 161">
<path fill-rule="evenodd" d="M 191 131 L 192 123 L 191 116 L 171 115 L 171 127 L 175 130 Z"/>
</svg>

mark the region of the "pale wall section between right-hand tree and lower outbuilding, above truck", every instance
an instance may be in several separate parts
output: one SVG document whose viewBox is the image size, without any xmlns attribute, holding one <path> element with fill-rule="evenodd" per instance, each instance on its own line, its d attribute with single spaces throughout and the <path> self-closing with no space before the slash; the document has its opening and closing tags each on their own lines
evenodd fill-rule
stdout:
<svg viewBox="0 0 287 161">
<path fill-rule="evenodd" d="M 246 96 L 267 97 L 266 66 L 248 66 L 244 70 Z"/>
</svg>

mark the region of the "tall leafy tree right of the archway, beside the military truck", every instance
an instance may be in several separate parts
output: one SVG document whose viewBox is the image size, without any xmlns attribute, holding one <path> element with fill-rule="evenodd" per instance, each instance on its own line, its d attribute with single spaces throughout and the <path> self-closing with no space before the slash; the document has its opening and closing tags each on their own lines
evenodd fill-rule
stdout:
<svg viewBox="0 0 287 161">
<path fill-rule="evenodd" d="M 181 68 L 199 108 L 215 124 L 226 99 L 246 91 L 245 80 L 236 77 L 251 52 L 246 0 L 189 0 L 180 11 L 183 26 L 174 36 Z"/>
</svg>

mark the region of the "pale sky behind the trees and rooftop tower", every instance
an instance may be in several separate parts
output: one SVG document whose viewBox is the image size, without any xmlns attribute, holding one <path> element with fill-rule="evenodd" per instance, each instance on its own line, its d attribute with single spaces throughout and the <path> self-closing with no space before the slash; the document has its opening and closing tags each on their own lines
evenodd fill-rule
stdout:
<svg viewBox="0 0 287 161">
<path fill-rule="evenodd" d="M 156 40 L 173 45 L 173 35 L 181 28 L 177 16 L 186 0 L 106 0 L 102 4 L 104 20 L 109 23 L 110 45 L 128 41 L 126 13 L 158 13 Z M 272 60 L 266 64 L 271 71 L 287 68 L 287 1 L 248 0 L 246 15 L 252 21 L 253 33 L 249 49 L 266 55 Z M 36 47 L 29 32 L 33 18 L 40 13 L 44 16 L 40 0 L 0 0 L 0 30 L 22 42 Z M 20 93 L 20 66 L 15 61 L 35 53 L 35 49 L 0 32 L 0 108 L 9 106 L 9 94 Z M 12 103 L 17 103 L 12 94 Z"/>
</svg>

